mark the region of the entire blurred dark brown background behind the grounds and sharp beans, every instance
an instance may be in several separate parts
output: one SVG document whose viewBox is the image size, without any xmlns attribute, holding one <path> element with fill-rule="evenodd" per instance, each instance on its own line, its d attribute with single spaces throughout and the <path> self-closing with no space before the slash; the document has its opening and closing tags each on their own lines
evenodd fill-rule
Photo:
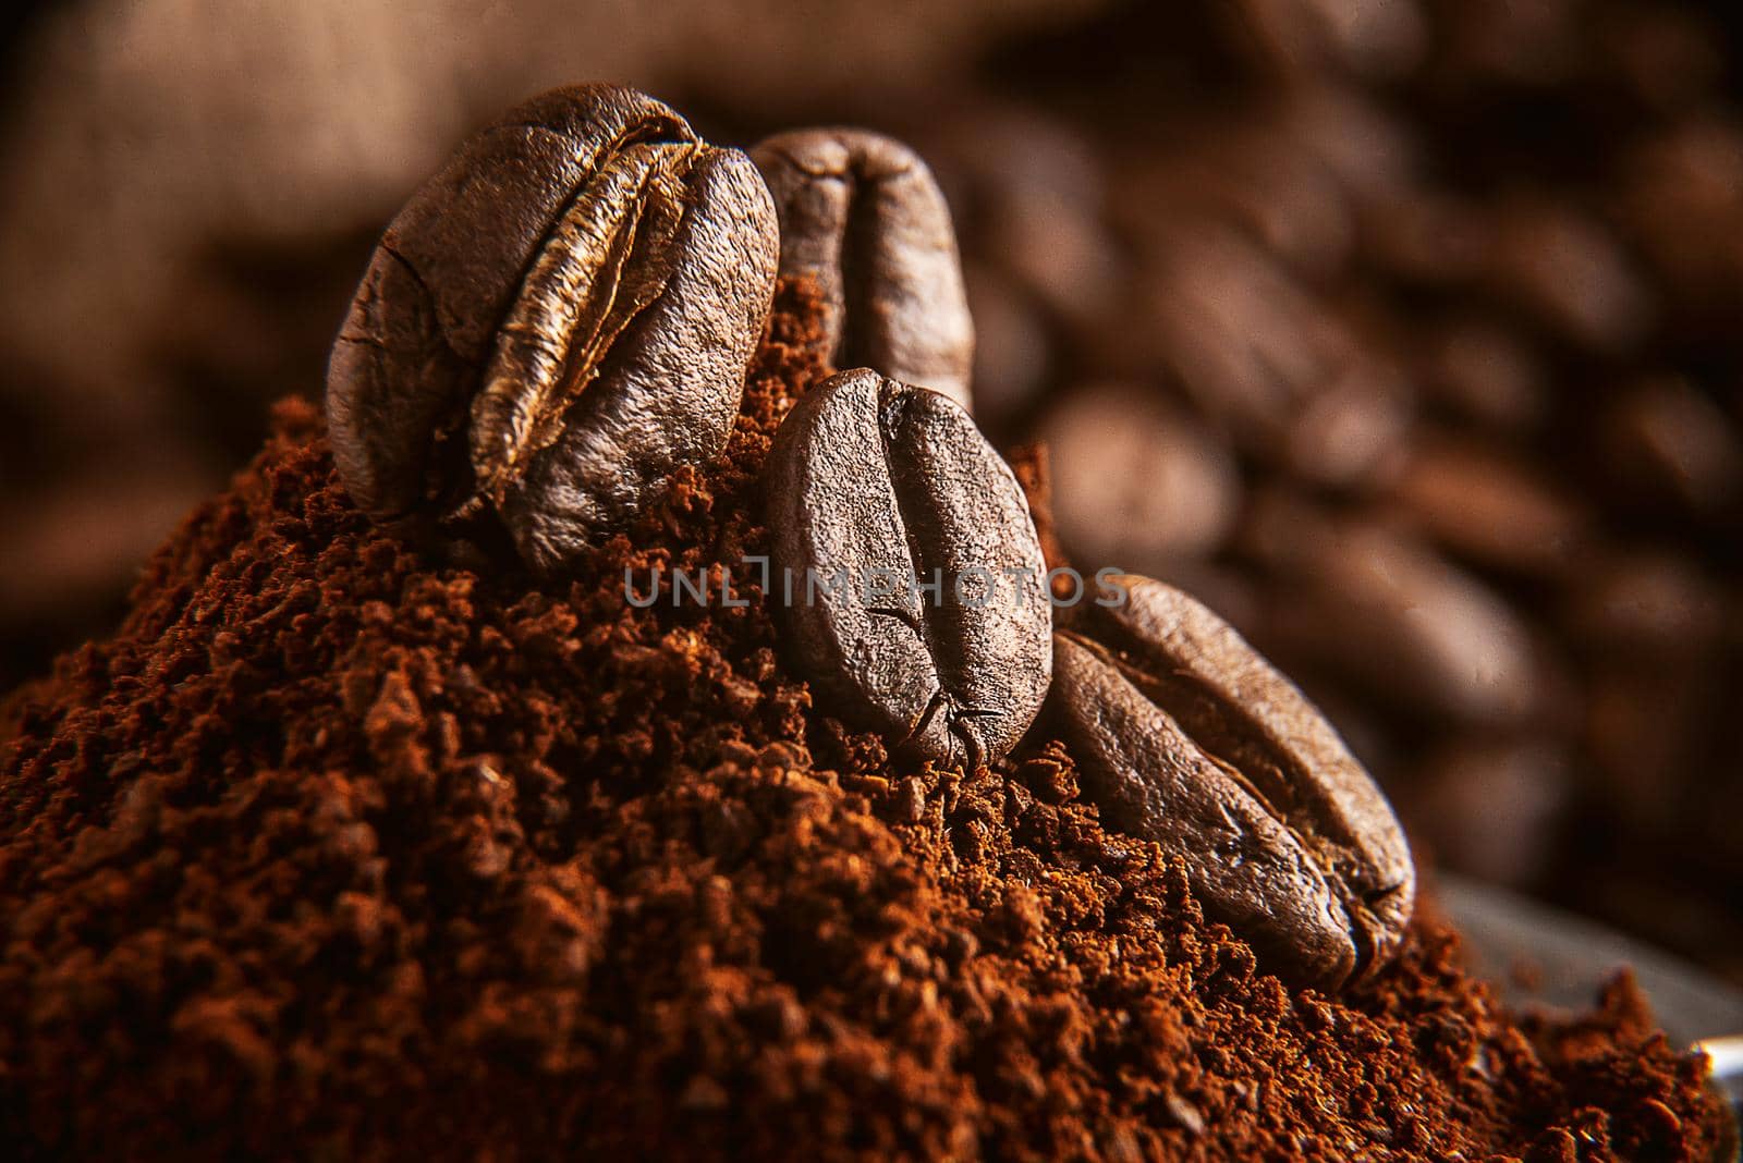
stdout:
<svg viewBox="0 0 1743 1163">
<path fill-rule="evenodd" d="M 471 127 L 847 120 L 959 216 L 1088 566 L 1297 676 L 1447 865 L 1743 980 L 1738 21 L 1644 0 L 84 3 L 7 30 L 0 688 L 317 393 Z"/>
</svg>

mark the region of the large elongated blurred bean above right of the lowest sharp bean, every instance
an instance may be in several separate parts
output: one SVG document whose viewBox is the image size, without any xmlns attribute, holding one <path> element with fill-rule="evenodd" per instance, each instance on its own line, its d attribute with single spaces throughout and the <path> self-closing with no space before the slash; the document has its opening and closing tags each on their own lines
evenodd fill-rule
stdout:
<svg viewBox="0 0 1743 1163">
<path fill-rule="evenodd" d="M 1530 634 L 1501 597 L 1412 538 L 1265 496 L 1243 548 L 1276 578 L 1260 641 L 1431 719 L 1518 723 L 1537 707 Z"/>
</svg>

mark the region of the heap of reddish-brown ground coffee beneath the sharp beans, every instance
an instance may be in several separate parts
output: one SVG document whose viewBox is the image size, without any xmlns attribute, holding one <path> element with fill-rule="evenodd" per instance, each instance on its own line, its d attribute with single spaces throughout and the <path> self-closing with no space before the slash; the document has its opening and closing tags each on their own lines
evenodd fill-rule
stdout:
<svg viewBox="0 0 1743 1163">
<path fill-rule="evenodd" d="M 281 406 L 0 717 L 9 1158 L 1710 1158 L 1626 978 L 1515 1020 L 1424 907 L 1292 994 L 1060 743 L 939 773 L 814 707 L 739 561 L 816 319 L 561 587 L 378 533 Z M 636 608 L 655 564 L 751 601 Z"/>
</svg>

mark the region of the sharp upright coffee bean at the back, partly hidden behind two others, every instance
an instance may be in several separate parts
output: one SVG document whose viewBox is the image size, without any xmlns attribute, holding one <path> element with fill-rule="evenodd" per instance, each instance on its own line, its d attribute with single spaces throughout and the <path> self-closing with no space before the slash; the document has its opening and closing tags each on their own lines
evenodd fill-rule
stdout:
<svg viewBox="0 0 1743 1163">
<path fill-rule="evenodd" d="M 781 216 L 781 273 L 823 291 L 830 362 L 969 407 L 974 324 L 950 207 L 926 162 L 859 129 L 776 134 L 751 157 Z"/>
</svg>

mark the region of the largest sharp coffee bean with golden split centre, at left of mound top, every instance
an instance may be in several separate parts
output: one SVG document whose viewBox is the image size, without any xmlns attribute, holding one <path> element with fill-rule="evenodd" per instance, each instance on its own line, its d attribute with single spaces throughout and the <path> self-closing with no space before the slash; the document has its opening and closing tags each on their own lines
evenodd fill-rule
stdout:
<svg viewBox="0 0 1743 1163">
<path fill-rule="evenodd" d="M 500 521 L 553 571 L 718 454 L 774 294 L 743 153 L 629 89 L 511 110 L 387 228 L 328 366 L 340 477 L 451 540 Z"/>
</svg>

